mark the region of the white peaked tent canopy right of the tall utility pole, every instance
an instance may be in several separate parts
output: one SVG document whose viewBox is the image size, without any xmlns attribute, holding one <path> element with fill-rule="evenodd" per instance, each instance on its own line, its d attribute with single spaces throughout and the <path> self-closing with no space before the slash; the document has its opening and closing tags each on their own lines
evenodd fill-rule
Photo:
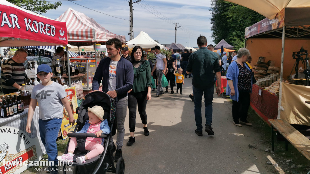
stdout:
<svg viewBox="0 0 310 174">
<path fill-rule="evenodd" d="M 141 46 L 142 48 L 152 48 L 155 46 L 159 46 L 160 48 L 165 48 L 163 45 L 154 41 L 151 37 L 148 36 L 147 33 L 141 31 L 139 35 L 133 38 L 130 41 L 126 42 L 129 48 L 133 48 L 135 46 Z"/>
</svg>

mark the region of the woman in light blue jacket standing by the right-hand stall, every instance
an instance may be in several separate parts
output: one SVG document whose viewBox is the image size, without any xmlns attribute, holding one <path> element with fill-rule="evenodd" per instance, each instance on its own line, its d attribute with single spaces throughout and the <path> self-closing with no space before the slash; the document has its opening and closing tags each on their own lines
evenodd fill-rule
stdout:
<svg viewBox="0 0 310 174">
<path fill-rule="evenodd" d="M 232 99 L 232 123 L 239 127 L 242 126 L 241 124 L 252 125 L 246 120 L 252 92 L 252 72 L 246 64 L 248 56 L 250 56 L 250 51 L 240 48 L 237 60 L 229 65 L 226 74 L 226 95 Z"/>
</svg>

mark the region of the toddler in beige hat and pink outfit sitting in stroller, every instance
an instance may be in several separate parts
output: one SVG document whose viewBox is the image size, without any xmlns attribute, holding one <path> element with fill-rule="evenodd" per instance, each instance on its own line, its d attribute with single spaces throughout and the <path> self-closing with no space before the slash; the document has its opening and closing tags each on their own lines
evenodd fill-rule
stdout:
<svg viewBox="0 0 310 174">
<path fill-rule="evenodd" d="M 108 121 L 103 119 L 104 110 L 100 106 L 94 106 L 88 108 L 89 120 L 86 121 L 86 124 L 83 126 L 82 130 L 76 133 L 95 133 L 97 137 L 100 137 L 101 134 L 108 135 L 110 133 L 110 128 Z M 69 132 L 71 133 L 71 132 Z M 85 160 L 94 158 L 100 155 L 103 150 L 104 139 L 103 138 L 92 138 L 87 137 L 85 142 L 85 149 L 90 150 L 86 155 L 80 156 L 76 159 L 78 164 L 85 163 Z M 68 154 L 63 154 L 58 156 L 57 159 L 64 162 L 73 161 L 73 152 L 77 146 L 77 140 L 75 137 L 71 137 L 68 147 Z"/>
</svg>

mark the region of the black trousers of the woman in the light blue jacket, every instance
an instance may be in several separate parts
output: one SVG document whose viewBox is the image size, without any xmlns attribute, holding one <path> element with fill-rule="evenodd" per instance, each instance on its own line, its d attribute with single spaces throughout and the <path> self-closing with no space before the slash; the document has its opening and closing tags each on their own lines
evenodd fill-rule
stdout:
<svg viewBox="0 0 310 174">
<path fill-rule="evenodd" d="M 237 124 L 240 121 L 247 122 L 246 117 L 250 107 L 250 93 L 239 91 L 239 101 L 232 100 L 232 118 Z"/>
</svg>

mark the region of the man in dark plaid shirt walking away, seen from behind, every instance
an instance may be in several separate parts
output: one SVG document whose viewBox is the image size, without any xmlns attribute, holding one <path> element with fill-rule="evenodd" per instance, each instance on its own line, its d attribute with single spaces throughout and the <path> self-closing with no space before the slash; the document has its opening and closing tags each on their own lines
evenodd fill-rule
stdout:
<svg viewBox="0 0 310 174">
<path fill-rule="evenodd" d="M 200 36 L 197 39 L 197 45 L 199 50 L 193 52 L 188 59 L 186 67 L 186 73 L 193 73 L 193 94 L 194 94 L 194 113 L 197 129 L 195 133 L 198 136 L 202 136 L 202 118 L 201 118 L 201 99 L 202 94 L 205 98 L 205 117 L 206 128 L 205 131 L 208 135 L 214 135 L 212 130 L 212 100 L 214 94 L 214 74 L 215 71 L 218 87 L 216 93 L 221 93 L 221 69 L 219 67 L 219 59 L 215 52 L 207 49 L 207 39 L 204 36 Z"/>
</svg>

